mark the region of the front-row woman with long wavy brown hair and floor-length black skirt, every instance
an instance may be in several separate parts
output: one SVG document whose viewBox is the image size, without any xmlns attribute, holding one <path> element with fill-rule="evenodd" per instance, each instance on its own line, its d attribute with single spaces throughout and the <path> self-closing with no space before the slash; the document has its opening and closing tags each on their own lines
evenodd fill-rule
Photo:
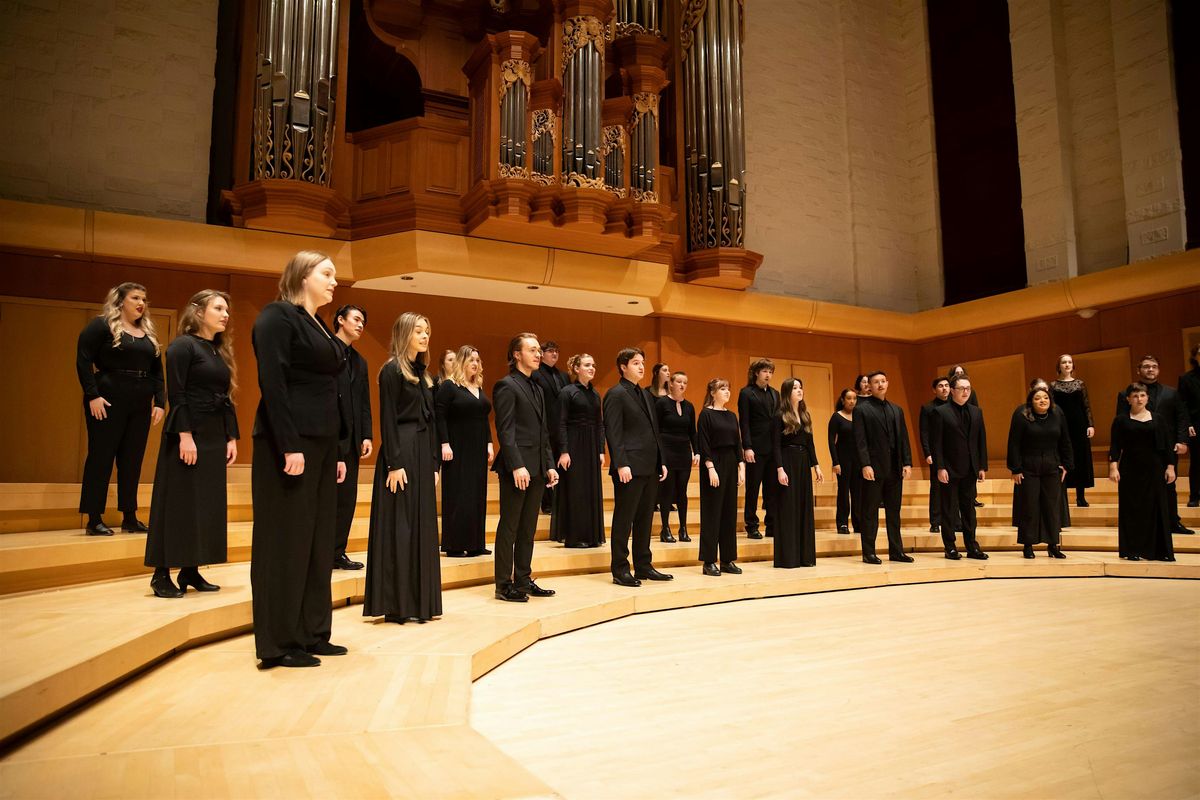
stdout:
<svg viewBox="0 0 1200 800">
<path fill-rule="evenodd" d="M 804 403 L 804 381 L 788 378 L 780 390 L 779 414 L 772 420 L 779 479 L 775 510 L 775 566 L 792 569 L 817 565 L 816 513 L 812 476 L 824 480 L 812 440 L 812 415 Z"/>
</svg>

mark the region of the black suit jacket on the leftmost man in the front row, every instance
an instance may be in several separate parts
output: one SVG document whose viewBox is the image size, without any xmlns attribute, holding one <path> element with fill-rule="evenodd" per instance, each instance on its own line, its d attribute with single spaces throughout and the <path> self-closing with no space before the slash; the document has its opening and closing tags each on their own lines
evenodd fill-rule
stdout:
<svg viewBox="0 0 1200 800">
<path fill-rule="evenodd" d="M 496 435 L 500 452 L 492 471 L 511 474 L 524 467 L 530 477 L 541 477 L 554 465 L 550 450 L 550 428 L 541 386 L 516 369 L 509 371 L 492 387 Z"/>
</svg>

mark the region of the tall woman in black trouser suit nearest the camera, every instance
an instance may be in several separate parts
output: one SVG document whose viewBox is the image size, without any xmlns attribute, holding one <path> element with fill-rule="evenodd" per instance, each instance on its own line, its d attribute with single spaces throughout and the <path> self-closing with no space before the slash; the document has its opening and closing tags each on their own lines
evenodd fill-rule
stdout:
<svg viewBox="0 0 1200 800">
<path fill-rule="evenodd" d="M 329 640 L 342 345 L 317 315 L 335 287 L 337 270 L 324 253 L 296 253 L 280 277 L 280 299 L 263 308 L 251 332 L 262 398 L 250 583 L 264 669 L 316 667 L 316 656 L 346 654 Z"/>
</svg>

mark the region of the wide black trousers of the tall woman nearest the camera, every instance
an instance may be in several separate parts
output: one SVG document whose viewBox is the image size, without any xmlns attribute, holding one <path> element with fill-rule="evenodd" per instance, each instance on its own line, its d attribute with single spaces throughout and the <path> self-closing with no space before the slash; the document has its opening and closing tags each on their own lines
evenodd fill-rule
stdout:
<svg viewBox="0 0 1200 800">
<path fill-rule="evenodd" d="M 283 455 L 254 437 L 250 585 L 259 658 L 328 642 L 332 626 L 337 439 L 301 437 L 300 452 L 304 473 L 284 475 Z"/>
</svg>

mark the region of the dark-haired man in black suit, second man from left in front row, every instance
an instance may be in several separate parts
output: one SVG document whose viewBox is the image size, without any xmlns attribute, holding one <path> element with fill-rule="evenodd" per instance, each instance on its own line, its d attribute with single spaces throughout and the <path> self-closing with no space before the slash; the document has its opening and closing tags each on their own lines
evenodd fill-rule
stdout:
<svg viewBox="0 0 1200 800">
<path fill-rule="evenodd" d="M 646 373 L 646 353 L 617 354 L 620 380 L 604 396 L 604 431 L 612 475 L 612 582 L 640 587 L 642 581 L 671 581 L 650 563 L 650 528 L 659 481 L 666 480 L 659 421 L 650 396 L 637 384 Z M 629 535 L 634 534 L 634 573 L 629 573 Z"/>
</svg>

